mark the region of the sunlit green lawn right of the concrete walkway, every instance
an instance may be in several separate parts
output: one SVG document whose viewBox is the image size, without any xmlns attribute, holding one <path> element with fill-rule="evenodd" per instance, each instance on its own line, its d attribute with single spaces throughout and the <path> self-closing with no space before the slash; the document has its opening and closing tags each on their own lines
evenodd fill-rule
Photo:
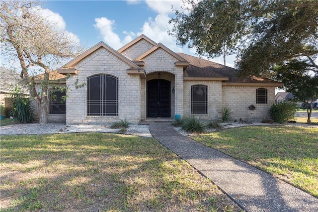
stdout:
<svg viewBox="0 0 318 212">
<path fill-rule="evenodd" d="M 249 126 L 192 138 L 318 197 L 318 128 Z"/>
</svg>

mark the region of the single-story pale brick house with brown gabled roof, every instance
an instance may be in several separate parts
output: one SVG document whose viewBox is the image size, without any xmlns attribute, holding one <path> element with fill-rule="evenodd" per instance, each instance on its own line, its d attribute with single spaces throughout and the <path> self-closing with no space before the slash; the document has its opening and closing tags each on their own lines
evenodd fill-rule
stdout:
<svg viewBox="0 0 318 212">
<path fill-rule="evenodd" d="M 66 122 L 105 123 L 191 115 L 218 119 L 223 107 L 233 119 L 268 118 L 275 102 L 273 80 L 236 77 L 236 69 L 183 53 L 140 35 L 119 50 L 99 42 L 65 66 L 69 74 Z M 75 88 L 75 83 L 85 83 Z M 254 108 L 249 107 L 253 105 Z M 252 109 L 251 109 L 252 108 Z"/>
</svg>

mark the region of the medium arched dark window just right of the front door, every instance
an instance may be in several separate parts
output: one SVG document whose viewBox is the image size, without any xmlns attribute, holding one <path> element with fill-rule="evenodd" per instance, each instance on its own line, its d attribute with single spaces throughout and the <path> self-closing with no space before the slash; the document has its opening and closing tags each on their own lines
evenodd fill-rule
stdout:
<svg viewBox="0 0 318 212">
<path fill-rule="evenodd" d="M 191 113 L 208 113 L 208 87 L 202 85 L 191 86 Z"/>
</svg>

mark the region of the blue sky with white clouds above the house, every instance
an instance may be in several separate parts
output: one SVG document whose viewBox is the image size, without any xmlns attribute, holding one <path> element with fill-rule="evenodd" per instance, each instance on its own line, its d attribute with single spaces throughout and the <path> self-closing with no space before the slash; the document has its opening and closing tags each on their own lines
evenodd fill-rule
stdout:
<svg viewBox="0 0 318 212">
<path fill-rule="evenodd" d="M 175 38 L 167 34 L 171 28 L 168 20 L 174 16 L 171 6 L 180 8 L 181 0 L 49 0 L 41 3 L 45 14 L 87 48 L 104 41 L 119 49 L 145 34 L 175 52 L 195 55 L 195 50 L 177 46 Z M 223 58 L 211 60 L 223 64 Z M 235 56 L 228 56 L 227 65 L 233 67 L 234 60 Z"/>
</svg>

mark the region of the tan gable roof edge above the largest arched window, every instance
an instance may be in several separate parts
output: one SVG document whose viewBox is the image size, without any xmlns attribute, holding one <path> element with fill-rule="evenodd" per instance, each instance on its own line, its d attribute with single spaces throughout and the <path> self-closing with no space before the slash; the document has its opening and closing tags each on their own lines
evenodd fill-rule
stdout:
<svg viewBox="0 0 318 212">
<path fill-rule="evenodd" d="M 65 64 L 63 67 L 61 67 L 61 69 L 65 69 L 65 68 L 73 68 L 76 64 L 78 64 L 81 60 L 83 60 L 85 57 L 87 57 L 88 55 L 92 54 L 93 52 L 95 52 L 97 49 L 99 48 L 105 48 L 108 51 L 110 51 L 112 54 L 114 54 L 115 56 L 117 56 L 118 58 L 120 58 L 122 61 L 124 61 L 125 63 L 127 63 L 128 65 L 130 65 L 132 68 L 136 68 L 136 69 L 140 69 L 139 66 L 137 66 L 135 63 L 133 63 L 131 60 L 129 60 L 127 57 L 123 56 L 122 54 L 120 54 L 119 52 L 117 52 L 115 49 L 111 48 L 109 45 L 107 45 L 106 43 L 100 41 L 99 43 L 97 43 L 96 45 L 94 45 L 93 47 L 89 48 L 88 50 L 86 50 L 84 53 L 80 54 L 78 57 L 74 58 L 73 60 L 71 60 L 70 62 L 68 62 L 67 64 Z M 63 73 L 61 69 L 58 69 L 58 72 Z"/>
</svg>

